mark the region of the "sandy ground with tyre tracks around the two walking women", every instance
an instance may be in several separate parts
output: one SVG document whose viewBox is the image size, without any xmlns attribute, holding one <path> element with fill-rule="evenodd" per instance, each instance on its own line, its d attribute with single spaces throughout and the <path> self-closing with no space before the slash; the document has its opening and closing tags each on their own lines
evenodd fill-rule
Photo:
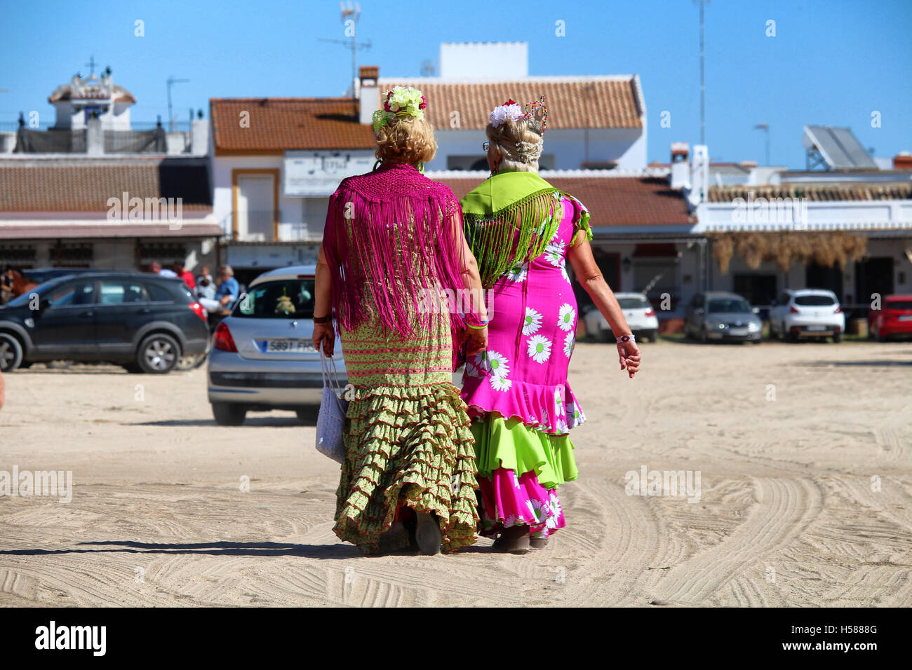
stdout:
<svg viewBox="0 0 912 670">
<path fill-rule="evenodd" d="M 74 493 L 0 498 L 0 605 L 912 605 L 912 345 L 643 349 L 628 380 L 577 345 L 580 479 L 525 556 L 362 557 L 315 428 L 216 426 L 204 369 L 5 376 L 0 470 Z M 700 499 L 627 495 L 643 467 L 699 471 Z"/>
</svg>

